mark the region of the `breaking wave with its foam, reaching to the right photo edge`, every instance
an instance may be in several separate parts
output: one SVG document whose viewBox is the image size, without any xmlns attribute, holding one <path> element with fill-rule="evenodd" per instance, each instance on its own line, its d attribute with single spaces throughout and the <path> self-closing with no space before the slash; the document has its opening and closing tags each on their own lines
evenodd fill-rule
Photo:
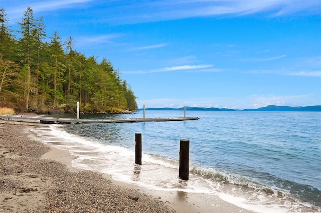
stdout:
<svg viewBox="0 0 321 213">
<path fill-rule="evenodd" d="M 241 174 L 232 174 L 222 169 L 192 163 L 190 180 L 182 181 L 178 177 L 178 160 L 143 153 L 143 165 L 139 166 L 134 164 L 134 151 L 127 147 L 74 135 L 56 125 L 51 125 L 49 129 L 41 127 L 33 131 L 38 135 L 38 140 L 69 150 L 71 154 L 78 156 L 72 162 L 73 166 L 107 173 L 119 181 L 158 190 L 230 195 L 232 193 L 234 197 L 245 197 L 247 202 L 252 199 L 250 200 L 252 203 L 258 202 L 258 198 L 253 198 L 253 194 L 258 194 L 265 197 L 265 200 L 279 200 L 280 206 L 284 200 L 293 196 L 300 201 L 312 200 L 315 205 L 321 206 L 318 189 L 277 179 L 268 173 L 257 174 L 268 177 L 267 183 L 264 184 Z M 298 194 L 300 190 L 301 193 Z"/>
</svg>

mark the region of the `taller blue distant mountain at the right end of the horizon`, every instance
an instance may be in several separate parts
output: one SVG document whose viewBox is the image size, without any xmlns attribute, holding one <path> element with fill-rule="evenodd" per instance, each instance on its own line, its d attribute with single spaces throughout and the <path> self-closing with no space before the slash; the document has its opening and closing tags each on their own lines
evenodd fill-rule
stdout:
<svg viewBox="0 0 321 213">
<path fill-rule="evenodd" d="M 305 107 L 290 107 L 290 106 L 275 106 L 268 105 L 258 109 L 244 109 L 243 111 L 278 111 L 278 112 L 321 112 L 321 105 L 305 106 Z"/>
</svg>

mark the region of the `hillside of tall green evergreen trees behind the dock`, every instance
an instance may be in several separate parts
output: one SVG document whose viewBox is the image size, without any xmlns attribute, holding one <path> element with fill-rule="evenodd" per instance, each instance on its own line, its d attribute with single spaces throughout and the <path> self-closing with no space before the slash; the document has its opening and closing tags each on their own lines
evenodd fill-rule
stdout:
<svg viewBox="0 0 321 213">
<path fill-rule="evenodd" d="M 22 16 L 14 32 L 0 9 L 0 107 L 74 112 L 79 101 L 84 112 L 137 109 L 131 87 L 110 61 L 78 53 L 72 37 L 46 35 L 43 18 L 35 18 L 30 7 Z"/>
</svg>

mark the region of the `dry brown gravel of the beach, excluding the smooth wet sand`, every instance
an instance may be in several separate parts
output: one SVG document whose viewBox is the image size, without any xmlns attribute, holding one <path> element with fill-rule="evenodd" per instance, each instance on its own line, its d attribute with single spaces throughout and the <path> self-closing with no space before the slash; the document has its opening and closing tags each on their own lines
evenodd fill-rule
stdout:
<svg viewBox="0 0 321 213">
<path fill-rule="evenodd" d="M 50 147 L 26 128 L 0 124 L 0 212 L 176 212 L 100 173 L 42 159 Z"/>
</svg>

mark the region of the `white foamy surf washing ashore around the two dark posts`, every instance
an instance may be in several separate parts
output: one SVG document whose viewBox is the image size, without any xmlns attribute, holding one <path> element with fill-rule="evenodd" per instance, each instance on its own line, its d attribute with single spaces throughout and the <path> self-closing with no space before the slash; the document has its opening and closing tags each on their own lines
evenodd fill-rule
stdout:
<svg viewBox="0 0 321 213">
<path fill-rule="evenodd" d="M 222 181 L 213 181 L 206 175 L 208 172 L 218 172 L 213 168 L 201 168 L 202 171 L 196 174 L 190 172 L 190 179 L 183 181 L 178 177 L 179 162 L 176 160 L 143 153 L 143 165 L 140 166 L 134 163 L 135 153 L 129 148 L 73 135 L 56 125 L 33 131 L 38 135 L 38 140 L 68 150 L 77 156 L 72 161 L 74 167 L 106 173 L 117 181 L 156 190 L 213 193 L 219 195 L 222 200 L 254 212 L 283 213 L 289 210 L 282 206 L 283 201 L 277 200 L 275 195 L 244 193 L 241 187 L 229 189 L 225 188 L 226 185 L 222 187 Z M 202 172 L 205 172 L 203 176 Z M 229 181 L 233 183 L 230 178 Z"/>
</svg>

